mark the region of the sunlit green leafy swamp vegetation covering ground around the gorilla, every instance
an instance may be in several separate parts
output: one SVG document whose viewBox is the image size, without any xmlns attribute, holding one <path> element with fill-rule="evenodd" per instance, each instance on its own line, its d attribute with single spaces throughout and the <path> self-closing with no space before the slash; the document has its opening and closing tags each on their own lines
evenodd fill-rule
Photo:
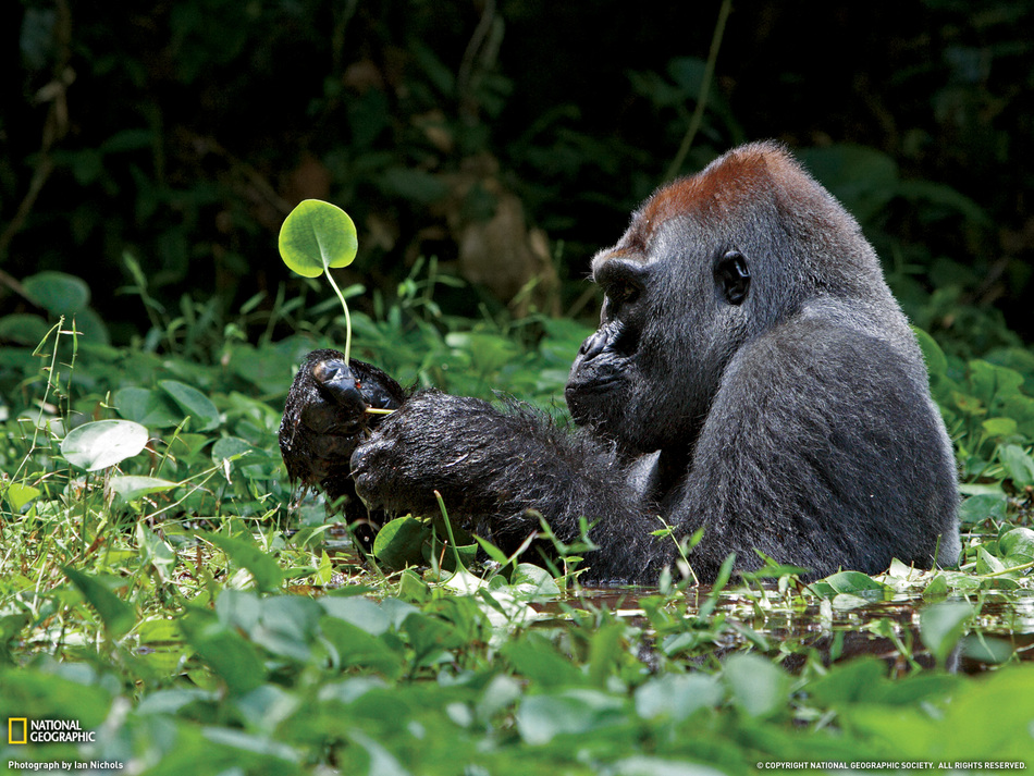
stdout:
<svg viewBox="0 0 1034 776">
<path fill-rule="evenodd" d="M 73 281 L 34 282 L 60 296 Z M 586 331 L 448 319 L 436 285 L 414 275 L 382 317 L 356 315 L 359 348 L 413 382 L 555 410 Z M 958 569 L 803 586 L 770 564 L 707 590 L 690 549 L 656 589 L 586 590 L 588 543 L 543 569 L 443 513 L 391 524 L 370 566 L 318 501 L 288 508 L 279 407 L 303 353 L 342 334 L 327 307 L 284 303 L 308 333 L 227 336 L 208 364 L 183 354 L 235 323 L 186 303 L 143 337 L 176 353 L 127 359 L 71 322 L 0 353 L 0 705 L 98 731 L 0 743 L 4 759 L 378 775 L 1034 763 L 1029 352 L 964 361 L 921 333 L 970 494 Z M 658 525 L 657 541 L 674 539 Z"/>
</svg>

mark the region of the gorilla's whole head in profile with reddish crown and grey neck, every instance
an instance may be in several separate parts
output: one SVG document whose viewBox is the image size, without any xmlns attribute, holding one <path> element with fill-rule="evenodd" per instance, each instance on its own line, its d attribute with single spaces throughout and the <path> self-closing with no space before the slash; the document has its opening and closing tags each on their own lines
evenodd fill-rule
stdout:
<svg viewBox="0 0 1034 776">
<path fill-rule="evenodd" d="M 805 303 L 852 299 L 858 325 L 883 336 L 906 327 L 857 222 L 773 143 L 657 190 L 592 276 L 601 323 L 567 405 L 632 455 L 688 452 L 733 356 Z M 890 338 L 915 354 L 902 332 Z"/>
</svg>

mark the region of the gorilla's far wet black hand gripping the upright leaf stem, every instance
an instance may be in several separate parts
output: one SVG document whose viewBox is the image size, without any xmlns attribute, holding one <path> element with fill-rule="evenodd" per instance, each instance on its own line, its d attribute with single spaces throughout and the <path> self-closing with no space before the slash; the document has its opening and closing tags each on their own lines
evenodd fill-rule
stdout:
<svg viewBox="0 0 1034 776">
<path fill-rule="evenodd" d="M 295 375 L 280 426 L 287 476 L 321 486 L 331 498 L 349 494 L 348 457 L 383 418 L 367 409 L 394 409 L 405 398 L 377 367 L 355 359 L 346 365 L 338 350 L 313 350 Z"/>
</svg>

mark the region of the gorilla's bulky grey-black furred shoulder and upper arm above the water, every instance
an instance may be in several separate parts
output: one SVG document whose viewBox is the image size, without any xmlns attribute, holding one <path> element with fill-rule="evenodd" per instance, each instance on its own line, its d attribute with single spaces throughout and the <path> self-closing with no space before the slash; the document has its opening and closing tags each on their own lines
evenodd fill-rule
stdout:
<svg viewBox="0 0 1034 776">
<path fill-rule="evenodd" d="M 744 345 L 676 507 L 682 531 L 705 528 L 697 574 L 713 578 L 729 552 L 758 566 L 754 547 L 815 577 L 893 557 L 928 568 L 938 541 L 955 563 L 953 458 L 913 367 L 857 324 L 807 312 Z"/>
</svg>

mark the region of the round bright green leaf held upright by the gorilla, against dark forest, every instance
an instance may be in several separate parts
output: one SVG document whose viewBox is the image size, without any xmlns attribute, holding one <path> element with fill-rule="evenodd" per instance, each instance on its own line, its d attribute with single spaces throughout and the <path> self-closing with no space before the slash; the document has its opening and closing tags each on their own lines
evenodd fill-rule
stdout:
<svg viewBox="0 0 1034 776">
<path fill-rule="evenodd" d="M 358 246 L 348 213 L 319 199 L 300 202 L 280 227 L 280 256 L 305 278 L 317 278 L 330 267 L 347 267 Z"/>
</svg>

